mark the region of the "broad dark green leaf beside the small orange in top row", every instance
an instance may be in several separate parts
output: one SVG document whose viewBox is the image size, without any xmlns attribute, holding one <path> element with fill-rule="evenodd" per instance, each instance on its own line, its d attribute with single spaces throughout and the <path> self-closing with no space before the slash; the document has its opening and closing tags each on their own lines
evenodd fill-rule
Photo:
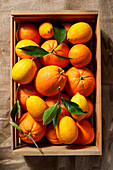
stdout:
<svg viewBox="0 0 113 170">
<path fill-rule="evenodd" d="M 54 37 L 57 40 L 57 44 L 61 44 L 66 37 L 66 30 L 63 25 L 53 26 Z"/>
</svg>

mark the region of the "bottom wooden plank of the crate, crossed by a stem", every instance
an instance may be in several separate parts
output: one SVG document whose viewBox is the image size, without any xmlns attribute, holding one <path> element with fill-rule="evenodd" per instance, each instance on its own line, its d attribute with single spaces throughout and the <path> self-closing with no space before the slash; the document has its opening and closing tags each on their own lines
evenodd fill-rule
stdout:
<svg viewBox="0 0 113 170">
<path fill-rule="evenodd" d="M 100 151 L 96 146 L 40 146 L 44 155 L 99 155 Z M 69 149 L 66 149 L 66 148 Z M 21 146 L 13 150 L 13 155 L 40 155 L 43 156 L 36 147 Z"/>
</svg>

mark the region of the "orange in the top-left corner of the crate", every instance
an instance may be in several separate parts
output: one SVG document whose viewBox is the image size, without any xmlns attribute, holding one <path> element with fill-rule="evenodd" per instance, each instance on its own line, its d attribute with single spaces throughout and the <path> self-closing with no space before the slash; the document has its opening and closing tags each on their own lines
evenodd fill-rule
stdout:
<svg viewBox="0 0 113 170">
<path fill-rule="evenodd" d="M 38 29 L 33 24 L 22 24 L 19 26 L 16 32 L 17 41 L 20 40 L 32 40 L 35 43 L 40 42 L 40 35 Z"/>
</svg>

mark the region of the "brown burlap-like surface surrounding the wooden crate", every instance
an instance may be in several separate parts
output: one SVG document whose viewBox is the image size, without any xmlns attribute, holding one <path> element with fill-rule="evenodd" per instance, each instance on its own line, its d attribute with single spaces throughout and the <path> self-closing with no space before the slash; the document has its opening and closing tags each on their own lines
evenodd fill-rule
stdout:
<svg viewBox="0 0 113 170">
<path fill-rule="evenodd" d="M 102 156 L 23 157 L 11 154 L 10 13 L 25 10 L 100 10 L 102 36 Z M 113 1 L 0 0 L 0 170 L 113 170 Z"/>
</svg>

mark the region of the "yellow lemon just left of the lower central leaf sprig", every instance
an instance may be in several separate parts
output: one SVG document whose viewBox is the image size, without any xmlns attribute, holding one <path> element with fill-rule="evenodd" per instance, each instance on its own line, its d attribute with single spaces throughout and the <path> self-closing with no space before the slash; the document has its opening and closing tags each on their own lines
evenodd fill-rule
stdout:
<svg viewBox="0 0 113 170">
<path fill-rule="evenodd" d="M 44 111 L 47 109 L 46 102 L 38 96 L 29 96 L 26 101 L 28 112 L 38 121 L 43 120 Z"/>
</svg>

